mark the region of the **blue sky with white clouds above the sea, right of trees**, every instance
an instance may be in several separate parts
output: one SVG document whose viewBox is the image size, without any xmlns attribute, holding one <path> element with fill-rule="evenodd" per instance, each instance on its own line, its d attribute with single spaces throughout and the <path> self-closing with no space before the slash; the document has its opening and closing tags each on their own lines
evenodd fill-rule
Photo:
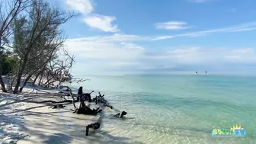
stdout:
<svg viewBox="0 0 256 144">
<path fill-rule="evenodd" d="M 72 72 L 256 73 L 255 0 L 56 0 Z"/>
</svg>

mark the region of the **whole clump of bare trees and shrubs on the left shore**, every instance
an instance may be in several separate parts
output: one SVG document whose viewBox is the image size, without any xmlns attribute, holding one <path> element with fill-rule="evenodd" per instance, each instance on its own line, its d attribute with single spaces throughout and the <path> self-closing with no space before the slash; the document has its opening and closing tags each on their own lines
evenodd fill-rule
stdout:
<svg viewBox="0 0 256 144">
<path fill-rule="evenodd" d="M 11 55 L 0 50 L 2 91 L 7 92 L 2 80 L 7 74 L 8 91 L 14 94 L 21 92 L 27 82 L 38 82 L 38 78 L 38 84 L 44 87 L 68 81 L 74 56 L 63 48 L 66 35 L 61 25 L 75 13 L 46 0 L 5 0 L 0 5 L 7 7 L 0 9 L 0 46 L 11 50 Z"/>
</svg>

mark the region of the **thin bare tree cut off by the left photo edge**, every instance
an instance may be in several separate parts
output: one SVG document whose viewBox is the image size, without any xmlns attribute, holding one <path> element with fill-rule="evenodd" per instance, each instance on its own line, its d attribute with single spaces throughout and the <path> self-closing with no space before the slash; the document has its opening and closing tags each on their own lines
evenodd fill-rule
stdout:
<svg viewBox="0 0 256 144">
<path fill-rule="evenodd" d="M 24 10 L 29 4 L 29 0 L 1 0 L 0 1 L 0 46 L 8 43 L 11 35 L 11 24 L 14 18 Z M 7 92 L 2 79 L 2 56 L 4 52 L 0 49 L 0 85 L 2 91 Z"/>
</svg>

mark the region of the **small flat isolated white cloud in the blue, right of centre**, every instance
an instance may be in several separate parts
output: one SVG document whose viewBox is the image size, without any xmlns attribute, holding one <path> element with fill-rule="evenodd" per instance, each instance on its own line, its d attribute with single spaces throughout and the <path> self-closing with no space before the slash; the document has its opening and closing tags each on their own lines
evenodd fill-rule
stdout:
<svg viewBox="0 0 256 144">
<path fill-rule="evenodd" d="M 165 23 L 157 23 L 155 27 L 157 29 L 165 29 L 165 30 L 184 30 L 190 27 L 185 27 L 187 23 L 183 21 L 169 21 Z"/>
</svg>

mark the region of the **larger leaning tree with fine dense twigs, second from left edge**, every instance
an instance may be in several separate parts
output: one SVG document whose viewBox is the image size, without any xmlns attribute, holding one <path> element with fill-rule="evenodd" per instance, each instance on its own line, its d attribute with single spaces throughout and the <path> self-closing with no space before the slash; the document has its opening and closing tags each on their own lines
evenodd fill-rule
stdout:
<svg viewBox="0 0 256 144">
<path fill-rule="evenodd" d="M 19 56 L 19 66 L 14 94 L 18 93 L 22 76 L 25 79 L 20 91 L 34 73 L 41 72 L 41 68 L 53 60 L 65 41 L 59 27 L 74 16 L 59 8 L 50 8 L 43 0 L 33 0 L 27 12 L 15 18 L 13 48 Z"/>
</svg>

